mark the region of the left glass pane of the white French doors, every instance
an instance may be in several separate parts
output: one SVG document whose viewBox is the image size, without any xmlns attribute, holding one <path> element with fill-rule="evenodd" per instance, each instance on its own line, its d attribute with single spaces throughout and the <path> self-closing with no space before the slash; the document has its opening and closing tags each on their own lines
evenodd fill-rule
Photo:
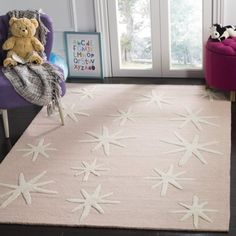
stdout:
<svg viewBox="0 0 236 236">
<path fill-rule="evenodd" d="M 121 69 L 152 68 L 150 0 L 117 0 Z"/>
</svg>

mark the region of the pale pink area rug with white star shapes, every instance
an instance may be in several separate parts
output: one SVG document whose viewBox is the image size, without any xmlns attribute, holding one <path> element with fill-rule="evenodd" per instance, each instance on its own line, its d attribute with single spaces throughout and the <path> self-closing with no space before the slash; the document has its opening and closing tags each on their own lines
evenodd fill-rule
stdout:
<svg viewBox="0 0 236 236">
<path fill-rule="evenodd" d="M 0 223 L 227 231 L 231 105 L 202 86 L 69 84 L 0 165 Z"/>
</svg>

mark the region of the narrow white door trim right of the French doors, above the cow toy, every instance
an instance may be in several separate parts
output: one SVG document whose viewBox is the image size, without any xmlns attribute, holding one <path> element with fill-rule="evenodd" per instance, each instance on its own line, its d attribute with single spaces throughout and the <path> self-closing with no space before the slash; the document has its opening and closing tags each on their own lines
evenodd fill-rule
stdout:
<svg viewBox="0 0 236 236">
<path fill-rule="evenodd" d="M 212 0 L 212 23 L 219 23 L 224 25 L 224 1 L 225 0 Z"/>
</svg>

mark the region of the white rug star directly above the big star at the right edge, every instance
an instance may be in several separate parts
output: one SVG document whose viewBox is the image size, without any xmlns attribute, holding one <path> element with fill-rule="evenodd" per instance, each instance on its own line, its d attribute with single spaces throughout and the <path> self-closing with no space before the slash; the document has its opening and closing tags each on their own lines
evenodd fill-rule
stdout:
<svg viewBox="0 0 236 236">
<path fill-rule="evenodd" d="M 177 113 L 179 118 L 172 118 L 170 120 L 173 121 L 183 121 L 183 123 L 179 126 L 179 128 L 183 128 L 188 123 L 192 123 L 198 130 L 202 130 L 201 124 L 211 125 L 218 127 L 217 124 L 207 121 L 206 119 L 217 118 L 217 116 L 200 116 L 199 113 L 202 112 L 202 109 L 199 109 L 195 112 L 191 111 L 189 108 L 185 107 L 186 114 Z"/>
</svg>

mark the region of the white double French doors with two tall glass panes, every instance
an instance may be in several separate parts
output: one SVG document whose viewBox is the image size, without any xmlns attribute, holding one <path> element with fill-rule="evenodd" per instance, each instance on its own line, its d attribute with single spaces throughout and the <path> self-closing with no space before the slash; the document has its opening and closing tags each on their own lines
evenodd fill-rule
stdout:
<svg viewBox="0 0 236 236">
<path fill-rule="evenodd" d="M 203 74 L 211 1 L 108 0 L 114 76 Z"/>
</svg>

